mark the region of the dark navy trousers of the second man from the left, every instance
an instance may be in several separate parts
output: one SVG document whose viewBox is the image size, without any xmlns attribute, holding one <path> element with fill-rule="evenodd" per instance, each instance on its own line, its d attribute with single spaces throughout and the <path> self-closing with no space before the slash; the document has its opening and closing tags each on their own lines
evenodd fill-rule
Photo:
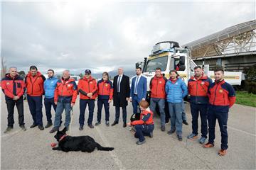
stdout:
<svg viewBox="0 0 256 170">
<path fill-rule="evenodd" d="M 42 96 L 27 96 L 29 111 L 33 118 L 33 124 L 43 125 L 43 98 Z"/>
</svg>

